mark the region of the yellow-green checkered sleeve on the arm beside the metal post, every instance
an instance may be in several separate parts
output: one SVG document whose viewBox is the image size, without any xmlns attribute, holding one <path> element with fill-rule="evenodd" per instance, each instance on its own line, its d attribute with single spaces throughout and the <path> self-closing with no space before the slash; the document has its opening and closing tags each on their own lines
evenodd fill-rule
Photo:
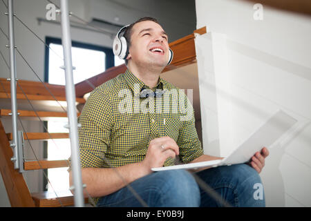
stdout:
<svg viewBox="0 0 311 221">
<path fill-rule="evenodd" d="M 109 95 L 95 89 L 79 116 L 79 153 L 82 168 L 108 167 L 104 156 L 110 145 L 112 122 Z"/>
</svg>

